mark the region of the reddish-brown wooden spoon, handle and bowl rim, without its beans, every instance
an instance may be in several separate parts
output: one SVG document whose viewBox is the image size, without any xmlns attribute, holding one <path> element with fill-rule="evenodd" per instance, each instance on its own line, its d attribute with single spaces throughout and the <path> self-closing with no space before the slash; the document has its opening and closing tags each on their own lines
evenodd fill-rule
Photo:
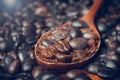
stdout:
<svg viewBox="0 0 120 80">
<path fill-rule="evenodd" d="M 86 63 L 90 58 L 92 58 L 95 53 L 98 51 L 99 47 L 100 47 L 100 34 L 98 33 L 95 25 L 94 25 L 94 17 L 95 17 L 95 14 L 96 12 L 98 11 L 101 3 L 102 3 L 103 0 L 95 0 L 92 7 L 90 8 L 89 12 L 83 16 L 82 18 L 78 18 L 78 20 L 82 20 L 84 21 L 90 29 L 93 30 L 93 32 L 97 35 L 97 37 L 99 38 L 98 40 L 98 43 L 97 43 L 97 48 L 96 48 L 96 51 L 92 53 L 92 55 L 88 58 L 86 58 L 85 60 L 83 61 L 78 61 L 78 62 L 74 62 L 74 63 L 52 63 L 52 62 L 47 62 L 47 61 L 44 61 L 44 60 L 41 60 L 39 54 L 40 52 L 38 52 L 38 44 L 45 38 L 47 38 L 49 35 L 50 35 L 50 31 L 44 33 L 38 40 L 38 42 L 36 43 L 35 45 L 35 58 L 38 62 L 38 64 L 40 65 L 43 65 L 44 67 L 46 67 L 47 69 L 50 69 L 50 70 L 56 70 L 56 71 L 59 71 L 59 72 L 64 72 L 66 70 L 69 70 L 69 69 L 72 69 L 72 68 L 78 68 L 80 66 L 82 66 L 84 63 Z M 65 24 L 62 24 L 62 26 L 64 25 L 71 25 L 71 22 L 66 22 Z M 40 51 L 40 50 L 39 50 Z"/>
</svg>

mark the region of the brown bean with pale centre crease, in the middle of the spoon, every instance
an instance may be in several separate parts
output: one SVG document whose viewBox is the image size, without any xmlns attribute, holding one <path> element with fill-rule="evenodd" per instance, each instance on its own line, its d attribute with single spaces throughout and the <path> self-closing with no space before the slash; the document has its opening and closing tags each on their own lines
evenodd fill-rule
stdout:
<svg viewBox="0 0 120 80">
<path fill-rule="evenodd" d="M 55 47 L 57 48 L 58 51 L 63 52 L 63 53 L 69 52 L 71 49 L 69 43 L 66 41 L 62 41 L 62 40 L 56 41 Z"/>
</svg>

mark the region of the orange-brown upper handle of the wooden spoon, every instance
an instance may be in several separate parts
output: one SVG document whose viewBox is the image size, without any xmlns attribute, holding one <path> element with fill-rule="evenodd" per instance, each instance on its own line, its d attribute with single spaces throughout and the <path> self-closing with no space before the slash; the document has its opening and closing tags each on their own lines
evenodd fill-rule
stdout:
<svg viewBox="0 0 120 80">
<path fill-rule="evenodd" d="M 83 16 L 82 18 L 80 18 L 81 20 L 84 20 L 84 21 L 94 21 L 94 17 L 101 5 L 103 0 L 95 0 L 92 7 L 90 8 L 89 12 Z"/>
</svg>

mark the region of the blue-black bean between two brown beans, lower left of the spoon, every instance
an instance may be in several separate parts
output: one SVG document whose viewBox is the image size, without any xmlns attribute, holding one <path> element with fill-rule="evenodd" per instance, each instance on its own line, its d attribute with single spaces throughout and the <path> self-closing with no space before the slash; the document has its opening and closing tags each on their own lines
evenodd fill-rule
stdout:
<svg viewBox="0 0 120 80">
<path fill-rule="evenodd" d="M 32 59 L 26 59 L 22 64 L 22 70 L 23 71 L 31 71 L 34 66 L 34 62 Z"/>
</svg>

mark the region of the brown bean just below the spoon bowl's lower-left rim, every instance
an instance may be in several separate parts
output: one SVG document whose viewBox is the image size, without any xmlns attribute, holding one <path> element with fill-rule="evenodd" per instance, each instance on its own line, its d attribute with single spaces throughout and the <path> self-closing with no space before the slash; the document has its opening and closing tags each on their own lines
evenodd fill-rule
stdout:
<svg viewBox="0 0 120 80">
<path fill-rule="evenodd" d="M 36 79 L 38 76 L 42 75 L 45 70 L 41 66 L 35 66 L 32 70 L 32 76 Z"/>
</svg>

